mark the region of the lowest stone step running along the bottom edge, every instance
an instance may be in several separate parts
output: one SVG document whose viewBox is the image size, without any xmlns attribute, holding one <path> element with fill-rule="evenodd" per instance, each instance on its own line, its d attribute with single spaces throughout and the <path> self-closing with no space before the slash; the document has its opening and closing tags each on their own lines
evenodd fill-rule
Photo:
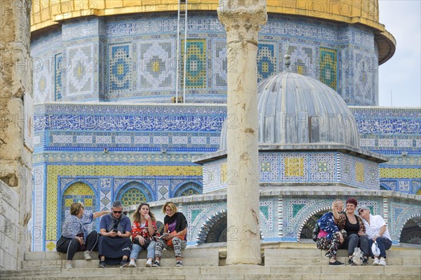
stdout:
<svg viewBox="0 0 421 280">
<path fill-rule="evenodd" d="M 2 280 L 11 279 L 149 279 L 149 280 L 419 280 L 421 267 L 329 267 L 325 266 L 260 266 L 234 265 L 225 267 L 159 267 L 106 269 L 22 269 L 0 271 Z"/>
</svg>

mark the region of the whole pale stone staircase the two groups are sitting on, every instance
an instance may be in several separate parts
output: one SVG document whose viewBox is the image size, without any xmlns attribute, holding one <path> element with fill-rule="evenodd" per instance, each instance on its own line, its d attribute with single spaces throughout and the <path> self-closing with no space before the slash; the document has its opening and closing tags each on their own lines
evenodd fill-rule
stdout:
<svg viewBox="0 0 421 280">
<path fill-rule="evenodd" d="M 142 252 L 137 268 L 107 266 L 98 269 L 98 255 L 83 260 L 76 253 L 74 268 L 65 269 L 65 254 L 57 252 L 28 252 L 20 270 L 0 271 L 1 280 L 11 279 L 151 279 L 151 280 L 317 280 L 317 279 L 370 279 L 421 280 L 421 248 L 392 246 L 387 251 L 387 267 L 347 265 L 328 266 L 324 251 L 315 244 L 262 244 L 265 265 L 225 265 L 225 244 L 206 244 L 188 247 L 183 251 L 185 267 L 174 267 L 172 251 L 163 251 L 161 267 L 145 267 L 146 253 Z M 338 260 L 345 262 L 347 253 L 338 252 Z"/>
</svg>

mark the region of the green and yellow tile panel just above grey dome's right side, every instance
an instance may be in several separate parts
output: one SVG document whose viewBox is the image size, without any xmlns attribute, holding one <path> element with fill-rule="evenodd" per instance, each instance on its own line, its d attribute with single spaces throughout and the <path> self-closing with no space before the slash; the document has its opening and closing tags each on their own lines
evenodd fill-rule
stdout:
<svg viewBox="0 0 421 280">
<path fill-rule="evenodd" d="M 331 48 L 320 48 L 320 81 L 333 90 L 337 90 L 337 51 Z"/>
</svg>

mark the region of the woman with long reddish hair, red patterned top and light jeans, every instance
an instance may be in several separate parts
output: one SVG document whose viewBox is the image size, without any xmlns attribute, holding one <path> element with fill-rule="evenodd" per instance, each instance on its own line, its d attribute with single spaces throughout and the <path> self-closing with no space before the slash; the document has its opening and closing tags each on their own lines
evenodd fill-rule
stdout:
<svg viewBox="0 0 421 280">
<path fill-rule="evenodd" d="M 132 251 L 130 254 L 130 263 L 128 267 L 136 267 L 136 259 L 143 250 L 147 250 L 146 267 L 152 267 L 152 260 L 155 255 L 155 245 L 153 237 L 159 236 L 156 227 L 155 216 L 149 209 L 149 204 L 140 204 L 132 215 Z"/>
</svg>

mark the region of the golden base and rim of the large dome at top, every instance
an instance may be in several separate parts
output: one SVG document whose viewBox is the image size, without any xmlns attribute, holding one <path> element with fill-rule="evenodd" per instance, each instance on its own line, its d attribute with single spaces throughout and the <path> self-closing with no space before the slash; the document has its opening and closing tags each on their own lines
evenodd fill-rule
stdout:
<svg viewBox="0 0 421 280">
<path fill-rule="evenodd" d="M 189 11 L 216 11 L 219 0 L 189 0 Z M 32 0 L 31 32 L 58 25 L 61 20 L 89 15 L 177 11 L 176 0 Z M 267 0 L 267 12 L 300 15 L 375 29 L 379 63 L 394 54 L 396 41 L 379 22 L 378 0 Z"/>
</svg>

